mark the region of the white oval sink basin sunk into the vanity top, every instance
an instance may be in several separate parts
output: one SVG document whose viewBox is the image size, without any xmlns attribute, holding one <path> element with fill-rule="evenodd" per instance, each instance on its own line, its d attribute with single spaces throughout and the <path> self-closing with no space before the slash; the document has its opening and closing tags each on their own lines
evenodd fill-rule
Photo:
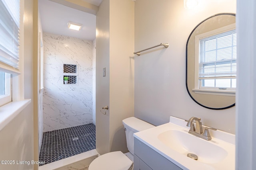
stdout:
<svg viewBox="0 0 256 170">
<path fill-rule="evenodd" d="M 193 153 L 198 161 L 214 164 L 223 160 L 228 152 L 215 143 L 189 134 L 187 131 L 168 130 L 158 135 L 158 139 L 167 147 L 187 156 Z"/>
</svg>

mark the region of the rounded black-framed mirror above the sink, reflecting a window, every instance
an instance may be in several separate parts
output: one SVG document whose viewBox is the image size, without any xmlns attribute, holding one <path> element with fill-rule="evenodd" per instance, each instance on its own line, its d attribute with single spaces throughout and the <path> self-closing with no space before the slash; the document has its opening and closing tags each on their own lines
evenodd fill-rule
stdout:
<svg viewBox="0 0 256 170">
<path fill-rule="evenodd" d="M 236 15 L 216 14 L 199 23 L 186 45 L 186 88 L 208 109 L 235 106 Z"/>
</svg>

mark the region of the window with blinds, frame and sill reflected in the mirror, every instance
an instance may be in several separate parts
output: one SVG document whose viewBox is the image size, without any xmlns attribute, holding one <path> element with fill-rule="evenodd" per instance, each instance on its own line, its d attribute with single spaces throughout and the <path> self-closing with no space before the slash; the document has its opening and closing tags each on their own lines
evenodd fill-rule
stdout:
<svg viewBox="0 0 256 170">
<path fill-rule="evenodd" d="M 236 29 L 228 25 L 196 36 L 196 93 L 234 96 L 236 90 Z"/>
</svg>

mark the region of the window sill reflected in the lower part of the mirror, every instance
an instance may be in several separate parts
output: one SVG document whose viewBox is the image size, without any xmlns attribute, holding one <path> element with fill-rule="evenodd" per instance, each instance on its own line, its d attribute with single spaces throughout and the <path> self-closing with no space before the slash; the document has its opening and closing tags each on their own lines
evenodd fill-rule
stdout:
<svg viewBox="0 0 256 170">
<path fill-rule="evenodd" d="M 236 96 L 234 90 L 209 90 L 209 89 L 192 89 L 196 94 L 211 94 L 220 96 Z"/>
</svg>

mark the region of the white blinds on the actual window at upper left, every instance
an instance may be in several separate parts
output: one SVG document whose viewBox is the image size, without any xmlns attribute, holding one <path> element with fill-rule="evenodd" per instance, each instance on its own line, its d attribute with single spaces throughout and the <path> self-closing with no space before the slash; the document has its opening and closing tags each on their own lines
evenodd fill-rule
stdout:
<svg viewBox="0 0 256 170">
<path fill-rule="evenodd" d="M 18 68 L 20 0 L 0 0 L 0 62 Z"/>
</svg>

